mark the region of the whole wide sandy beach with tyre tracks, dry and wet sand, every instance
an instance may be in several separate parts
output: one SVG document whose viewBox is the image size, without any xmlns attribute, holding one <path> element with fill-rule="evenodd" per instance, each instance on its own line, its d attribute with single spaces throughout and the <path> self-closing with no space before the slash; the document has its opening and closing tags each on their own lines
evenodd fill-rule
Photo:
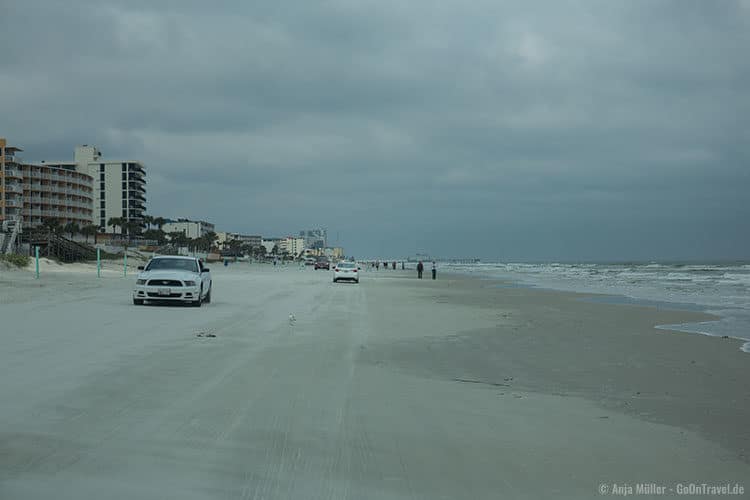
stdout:
<svg viewBox="0 0 750 500">
<path fill-rule="evenodd" d="M 137 307 L 61 267 L 0 271 L 2 499 L 748 496 L 749 355 L 654 328 L 704 314 L 249 264 Z"/>
</svg>

